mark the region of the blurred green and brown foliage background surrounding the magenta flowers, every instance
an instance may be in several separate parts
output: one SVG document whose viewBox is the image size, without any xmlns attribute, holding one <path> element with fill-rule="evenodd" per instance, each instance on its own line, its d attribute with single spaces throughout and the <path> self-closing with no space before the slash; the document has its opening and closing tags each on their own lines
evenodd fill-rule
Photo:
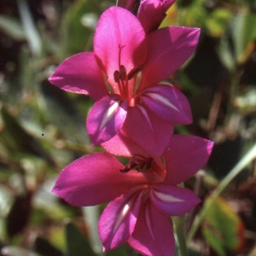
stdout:
<svg viewBox="0 0 256 256">
<path fill-rule="evenodd" d="M 48 78 L 68 56 L 92 50 L 96 21 L 113 5 L 0 1 L 0 255 L 103 255 L 96 222 L 104 206 L 71 207 L 50 192 L 64 166 L 102 150 L 84 125 L 93 101 Z M 201 27 L 195 55 L 168 78 L 194 117 L 175 132 L 215 142 L 208 165 L 185 183 L 202 199 L 187 218 L 189 255 L 254 256 L 256 154 L 237 163 L 256 143 L 256 1 L 177 0 L 161 24 L 171 25 Z M 125 244 L 107 255 L 139 254 Z"/>
</svg>

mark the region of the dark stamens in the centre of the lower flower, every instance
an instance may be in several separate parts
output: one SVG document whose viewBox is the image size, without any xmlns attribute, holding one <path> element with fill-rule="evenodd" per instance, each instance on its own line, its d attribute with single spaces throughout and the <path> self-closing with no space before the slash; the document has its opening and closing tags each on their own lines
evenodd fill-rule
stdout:
<svg viewBox="0 0 256 256">
<path fill-rule="evenodd" d="M 137 170 L 137 172 L 146 172 L 150 169 L 153 162 L 152 157 L 145 157 L 141 154 L 134 154 L 129 160 L 128 164 L 120 172 L 129 172 L 131 169 Z"/>
</svg>

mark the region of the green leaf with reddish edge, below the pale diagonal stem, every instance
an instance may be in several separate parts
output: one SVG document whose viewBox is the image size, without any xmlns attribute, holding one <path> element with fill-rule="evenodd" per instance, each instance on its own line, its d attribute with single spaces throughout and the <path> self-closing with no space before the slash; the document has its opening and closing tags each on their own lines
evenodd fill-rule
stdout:
<svg viewBox="0 0 256 256">
<path fill-rule="evenodd" d="M 236 251 L 243 243 L 244 227 L 241 219 L 223 198 L 217 197 L 212 202 L 204 220 L 203 236 L 218 255 Z"/>
</svg>

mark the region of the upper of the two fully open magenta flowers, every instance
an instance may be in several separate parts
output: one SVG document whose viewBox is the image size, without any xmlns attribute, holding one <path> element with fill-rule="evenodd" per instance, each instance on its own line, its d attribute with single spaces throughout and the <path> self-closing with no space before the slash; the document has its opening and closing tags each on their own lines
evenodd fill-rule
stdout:
<svg viewBox="0 0 256 256">
<path fill-rule="evenodd" d="M 98 21 L 94 53 L 63 61 L 49 81 L 97 101 L 87 119 L 93 144 L 124 130 L 142 147 L 162 154 L 173 125 L 192 118 L 186 97 L 171 84 L 158 83 L 192 55 L 199 32 L 171 26 L 146 35 L 131 12 L 112 7 Z"/>
</svg>

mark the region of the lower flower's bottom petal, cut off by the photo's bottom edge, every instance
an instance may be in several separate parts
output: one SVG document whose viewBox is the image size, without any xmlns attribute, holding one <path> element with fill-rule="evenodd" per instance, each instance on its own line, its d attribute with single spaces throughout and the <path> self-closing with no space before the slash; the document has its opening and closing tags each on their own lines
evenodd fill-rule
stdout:
<svg viewBox="0 0 256 256">
<path fill-rule="evenodd" d="M 175 241 L 171 218 L 148 202 L 145 207 L 141 207 L 135 230 L 128 242 L 143 255 L 174 255 Z"/>
</svg>

